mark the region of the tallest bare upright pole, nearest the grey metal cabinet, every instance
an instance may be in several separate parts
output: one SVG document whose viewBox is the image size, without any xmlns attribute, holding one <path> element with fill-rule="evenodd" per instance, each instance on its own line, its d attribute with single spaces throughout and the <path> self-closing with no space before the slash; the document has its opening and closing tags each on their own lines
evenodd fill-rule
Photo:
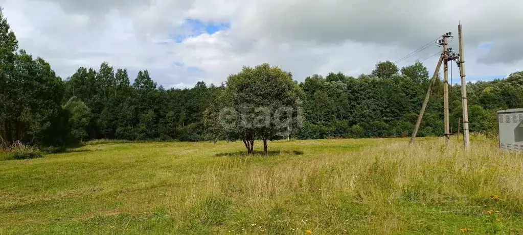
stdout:
<svg viewBox="0 0 523 235">
<path fill-rule="evenodd" d="M 463 143 L 465 150 L 469 150 L 469 105 L 467 101 L 467 81 L 465 81 L 465 56 L 463 54 L 463 30 L 461 23 L 458 26 L 459 34 L 459 63 L 460 63 L 460 77 L 461 77 L 461 105 L 463 109 Z"/>
</svg>

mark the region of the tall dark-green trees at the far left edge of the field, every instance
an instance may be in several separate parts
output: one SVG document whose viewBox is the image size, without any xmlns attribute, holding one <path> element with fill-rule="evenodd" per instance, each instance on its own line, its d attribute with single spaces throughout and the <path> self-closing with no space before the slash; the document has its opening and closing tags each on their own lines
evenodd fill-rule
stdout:
<svg viewBox="0 0 523 235">
<path fill-rule="evenodd" d="M 0 145 L 63 144 L 64 84 L 45 60 L 17 50 L 16 36 L 0 11 Z"/>
</svg>

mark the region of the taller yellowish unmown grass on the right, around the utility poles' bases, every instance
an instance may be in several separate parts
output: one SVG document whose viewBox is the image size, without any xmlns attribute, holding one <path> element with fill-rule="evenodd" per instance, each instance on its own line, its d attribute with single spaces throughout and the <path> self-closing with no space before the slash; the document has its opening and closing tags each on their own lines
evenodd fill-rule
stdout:
<svg viewBox="0 0 523 235">
<path fill-rule="evenodd" d="M 232 168 L 210 169 L 209 178 L 202 179 L 206 183 L 189 189 L 185 200 L 192 205 L 210 196 L 233 199 L 233 205 L 246 209 L 238 220 L 263 218 L 261 223 L 251 220 L 259 230 L 243 221 L 248 233 L 458 232 L 445 228 L 456 223 L 483 232 L 502 231 L 499 221 L 489 220 L 489 211 L 516 217 L 506 221 L 503 231 L 523 231 L 518 224 L 523 160 L 497 151 L 486 140 L 474 142 L 470 152 L 458 145 L 447 150 L 440 140 L 414 147 L 393 142 L 303 162 L 253 166 L 237 175 L 231 175 Z M 441 221 L 430 221 L 429 215 Z M 484 221 L 471 223 L 468 216 Z"/>
</svg>

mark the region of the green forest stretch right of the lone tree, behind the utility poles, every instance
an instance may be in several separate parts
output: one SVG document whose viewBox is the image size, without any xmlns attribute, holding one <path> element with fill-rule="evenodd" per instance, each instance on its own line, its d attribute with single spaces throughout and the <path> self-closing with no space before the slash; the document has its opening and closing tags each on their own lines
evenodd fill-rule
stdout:
<svg viewBox="0 0 523 235">
<path fill-rule="evenodd" d="M 496 110 L 523 107 L 523 76 L 516 72 L 506 79 L 468 83 L 469 118 L 472 132 L 493 137 L 497 134 Z M 456 78 L 457 81 L 459 78 Z M 389 61 L 378 63 L 371 75 L 358 78 L 329 73 L 314 75 L 300 84 L 306 94 L 307 123 L 298 138 L 402 137 L 412 134 L 417 114 L 428 88 L 428 71 L 421 63 L 401 72 Z M 418 135 L 442 135 L 443 83 L 437 80 L 431 91 Z M 450 88 L 450 128 L 458 131 L 461 87 Z"/>
</svg>

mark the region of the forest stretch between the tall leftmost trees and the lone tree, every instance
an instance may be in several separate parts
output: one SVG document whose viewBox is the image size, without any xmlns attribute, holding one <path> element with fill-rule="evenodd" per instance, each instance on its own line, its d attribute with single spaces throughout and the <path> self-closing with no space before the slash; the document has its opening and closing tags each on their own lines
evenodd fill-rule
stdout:
<svg viewBox="0 0 523 235">
<path fill-rule="evenodd" d="M 72 99 L 74 107 L 75 137 L 84 139 L 202 140 L 203 110 L 223 90 L 203 82 L 192 89 L 165 90 L 147 70 L 130 84 L 127 70 L 115 73 L 107 63 L 98 71 L 79 68 L 64 85 L 65 100 Z"/>
</svg>

